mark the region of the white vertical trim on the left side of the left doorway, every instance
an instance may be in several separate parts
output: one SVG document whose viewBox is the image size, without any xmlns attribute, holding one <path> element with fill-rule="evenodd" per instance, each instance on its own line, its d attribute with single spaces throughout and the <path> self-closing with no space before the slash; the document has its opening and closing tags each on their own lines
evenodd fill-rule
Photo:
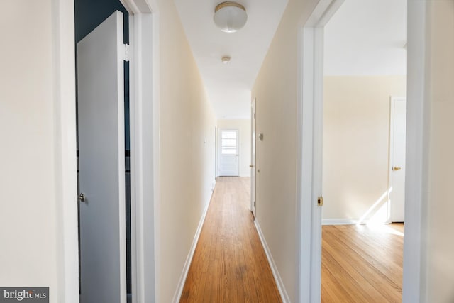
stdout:
<svg viewBox="0 0 454 303">
<path fill-rule="evenodd" d="M 57 300 L 79 302 L 74 1 L 52 0 Z"/>
</svg>

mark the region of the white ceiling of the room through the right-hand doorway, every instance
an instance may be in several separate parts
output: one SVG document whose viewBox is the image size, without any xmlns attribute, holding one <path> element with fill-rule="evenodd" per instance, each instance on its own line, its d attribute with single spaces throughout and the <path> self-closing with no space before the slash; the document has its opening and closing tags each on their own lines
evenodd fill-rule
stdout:
<svg viewBox="0 0 454 303">
<path fill-rule="evenodd" d="M 406 0 L 345 0 L 324 33 L 325 75 L 406 75 Z"/>
</svg>

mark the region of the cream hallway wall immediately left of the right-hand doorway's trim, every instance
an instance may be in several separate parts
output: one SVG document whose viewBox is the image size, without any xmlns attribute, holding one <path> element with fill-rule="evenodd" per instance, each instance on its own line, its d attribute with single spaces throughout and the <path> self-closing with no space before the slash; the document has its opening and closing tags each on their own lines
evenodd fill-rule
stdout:
<svg viewBox="0 0 454 303">
<path fill-rule="evenodd" d="M 256 221 L 290 302 L 299 291 L 297 244 L 298 41 L 316 0 L 289 0 L 253 86 L 256 133 Z M 303 243 L 304 245 L 304 243 Z M 308 244 L 309 245 L 309 244 Z"/>
</svg>

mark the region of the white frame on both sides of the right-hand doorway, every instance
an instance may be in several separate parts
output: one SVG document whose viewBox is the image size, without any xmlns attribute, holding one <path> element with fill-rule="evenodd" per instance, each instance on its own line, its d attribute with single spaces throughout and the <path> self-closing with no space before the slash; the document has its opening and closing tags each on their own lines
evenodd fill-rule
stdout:
<svg viewBox="0 0 454 303">
<path fill-rule="evenodd" d="M 343 0 L 320 0 L 299 35 L 298 96 L 298 192 L 299 302 L 320 302 L 321 294 L 321 211 L 316 197 L 321 193 L 321 109 L 323 109 L 323 26 Z M 424 270 L 426 253 L 423 233 L 423 202 L 427 199 L 426 160 L 430 112 L 425 98 L 426 1 L 407 1 L 407 136 L 406 205 L 404 241 L 403 302 L 425 299 Z M 314 121 L 318 118 L 319 121 Z M 309 243 L 309 244 L 308 244 Z M 419 291 L 415 291 L 419 290 Z"/>
</svg>

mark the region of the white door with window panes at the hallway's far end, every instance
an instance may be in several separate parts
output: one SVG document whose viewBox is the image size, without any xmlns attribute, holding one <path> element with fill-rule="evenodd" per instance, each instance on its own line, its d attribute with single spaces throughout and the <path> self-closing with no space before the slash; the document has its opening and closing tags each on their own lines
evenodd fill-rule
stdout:
<svg viewBox="0 0 454 303">
<path fill-rule="evenodd" d="M 221 130 L 221 153 L 219 153 L 219 175 L 238 176 L 238 129 Z"/>
</svg>

